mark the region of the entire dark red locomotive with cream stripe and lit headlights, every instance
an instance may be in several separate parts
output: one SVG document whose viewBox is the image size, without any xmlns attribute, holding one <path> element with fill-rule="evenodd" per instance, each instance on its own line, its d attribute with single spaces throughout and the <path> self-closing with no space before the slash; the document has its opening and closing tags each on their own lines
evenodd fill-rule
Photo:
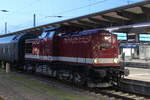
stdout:
<svg viewBox="0 0 150 100">
<path fill-rule="evenodd" d="M 45 30 L 25 41 L 25 70 L 75 84 L 107 87 L 128 71 L 119 64 L 117 36 L 105 30 Z"/>
</svg>

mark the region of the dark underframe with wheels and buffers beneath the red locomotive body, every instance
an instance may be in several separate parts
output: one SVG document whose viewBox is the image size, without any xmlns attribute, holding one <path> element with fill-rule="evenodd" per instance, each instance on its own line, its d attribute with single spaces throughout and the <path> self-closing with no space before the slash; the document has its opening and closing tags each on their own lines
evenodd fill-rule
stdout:
<svg viewBox="0 0 150 100">
<path fill-rule="evenodd" d="M 109 87 L 117 85 L 126 72 L 120 66 L 85 66 L 62 62 L 43 62 L 26 60 L 23 70 L 36 72 L 61 80 L 70 81 L 76 85 L 88 87 Z"/>
</svg>

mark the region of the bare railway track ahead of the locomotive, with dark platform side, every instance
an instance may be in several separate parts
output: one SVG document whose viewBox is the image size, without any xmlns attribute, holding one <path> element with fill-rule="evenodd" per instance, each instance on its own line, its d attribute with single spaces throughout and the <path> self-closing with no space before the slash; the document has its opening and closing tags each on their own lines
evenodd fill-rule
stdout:
<svg viewBox="0 0 150 100">
<path fill-rule="evenodd" d="M 121 100 L 150 100 L 150 83 L 124 79 L 118 87 L 96 89 L 96 93 Z"/>
</svg>

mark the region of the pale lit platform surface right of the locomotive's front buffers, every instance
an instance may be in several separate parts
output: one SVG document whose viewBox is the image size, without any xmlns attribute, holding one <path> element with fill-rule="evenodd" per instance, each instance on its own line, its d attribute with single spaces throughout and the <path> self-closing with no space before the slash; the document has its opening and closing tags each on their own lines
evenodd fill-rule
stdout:
<svg viewBox="0 0 150 100">
<path fill-rule="evenodd" d="M 130 71 L 129 76 L 125 77 L 126 79 L 150 82 L 150 69 L 133 68 L 133 67 L 125 67 L 125 68 L 129 69 Z"/>
</svg>

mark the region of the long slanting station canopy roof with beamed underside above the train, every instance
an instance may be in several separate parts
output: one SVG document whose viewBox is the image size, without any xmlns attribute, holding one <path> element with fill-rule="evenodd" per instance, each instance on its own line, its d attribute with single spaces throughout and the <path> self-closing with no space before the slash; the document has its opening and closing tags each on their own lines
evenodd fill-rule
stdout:
<svg viewBox="0 0 150 100">
<path fill-rule="evenodd" d="M 33 32 L 43 30 L 47 27 L 55 26 L 75 26 L 82 29 L 95 29 L 95 28 L 106 28 L 106 27 L 119 27 L 117 31 L 128 32 L 133 29 L 133 24 L 148 23 L 150 22 L 150 1 L 146 0 L 139 3 L 134 3 L 118 8 L 113 8 L 106 11 L 97 12 L 77 18 L 63 20 L 59 22 L 49 23 L 29 29 L 20 30 L 9 34 L 19 34 L 22 32 Z M 146 29 L 149 29 L 150 24 Z M 140 29 L 140 27 L 134 27 Z M 143 28 L 141 28 L 143 29 Z M 133 30 L 132 30 L 133 31 Z M 4 36 L 4 35 L 2 35 Z"/>
</svg>

